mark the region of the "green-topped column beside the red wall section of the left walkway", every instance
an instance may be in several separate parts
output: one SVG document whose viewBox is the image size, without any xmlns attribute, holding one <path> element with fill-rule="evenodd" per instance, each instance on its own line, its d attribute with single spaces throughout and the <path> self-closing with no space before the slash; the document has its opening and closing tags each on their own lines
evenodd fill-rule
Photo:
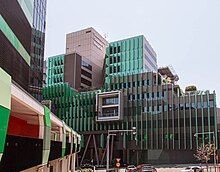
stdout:
<svg viewBox="0 0 220 172">
<path fill-rule="evenodd" d="M 44 141 L 43 141 L 43 157 L 42 164 L 47 164 L 50 155 L 50 142 L 51 142 L 51 119 L 50 109 L 44 106 Z"/>
</svg>

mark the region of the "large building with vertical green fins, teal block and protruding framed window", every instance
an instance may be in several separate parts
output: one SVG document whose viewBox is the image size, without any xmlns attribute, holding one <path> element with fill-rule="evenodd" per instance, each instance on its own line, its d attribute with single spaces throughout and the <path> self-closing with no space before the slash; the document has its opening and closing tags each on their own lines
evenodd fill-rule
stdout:
<svg viewBox="0 0 220 172">
<path fill-rule="evenodd" d="M 157 70 L 156 54 L 143 36 L 110 43 L 105 61 L 105 82 L 99 90 L 77 92 L 59 83 L 43 92 L 55 114 L 83 135 L 82 156 L 87 159 L 82 163 L 105 163 L 107 130 L 137 128 L 137 136 L 126 132 L 113 141 L 111 159 L 120 157 L 129 164 L 196 162 L 197 146 L 213 142 L 211 134 L 194 137 L 198 132 L 214 131 L 218 145 L 216 93 L 184 93 L 172 70 Z M 116 107 L 123 107 L 120 115 Z M 96 146 L 88 148 L 91 136 Z"/>
</svg>

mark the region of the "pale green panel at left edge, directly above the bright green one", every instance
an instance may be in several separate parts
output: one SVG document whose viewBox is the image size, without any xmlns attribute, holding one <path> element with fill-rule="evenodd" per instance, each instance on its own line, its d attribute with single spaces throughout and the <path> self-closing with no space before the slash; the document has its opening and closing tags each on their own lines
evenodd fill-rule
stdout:
<svg viewBox="0 0 220 172">
<path fill-rule="evenodd" d="M 11 76 L 0 68 L 0 105 L 11 109 Z"/>
</svg>

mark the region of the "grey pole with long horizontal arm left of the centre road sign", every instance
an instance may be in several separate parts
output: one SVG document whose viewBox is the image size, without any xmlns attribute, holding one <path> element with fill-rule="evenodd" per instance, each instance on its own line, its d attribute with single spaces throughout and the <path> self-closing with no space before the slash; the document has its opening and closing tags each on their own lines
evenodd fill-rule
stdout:
<svg viewBox="0 0 220 172">
<path fill-rule="evenodd" d="M 131 130 L 108 130 L 108 135 L 107 135 L 107 162 L 106 162 L 106 171 L 109 170 L 109 141 L 110 141 L 110 136 L 115 136 L 117 133 L 125 133 L 125 132 L 132 132 L 133 135 L 137 134 L 136 132 L 136 127 L 132 127 Z"/>
</svg>

